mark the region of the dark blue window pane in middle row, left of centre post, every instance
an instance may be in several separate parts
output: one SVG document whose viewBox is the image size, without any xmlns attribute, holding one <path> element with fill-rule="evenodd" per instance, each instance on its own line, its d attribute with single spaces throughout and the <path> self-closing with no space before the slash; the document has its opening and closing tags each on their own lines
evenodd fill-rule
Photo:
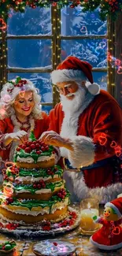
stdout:
<svg viewBox="0 0 122 256">
<path fill-rule="evenodd" d="M 51 69 L 50 39 L 8 39 L 8 65 L 17 68 Z"/>
</svg>

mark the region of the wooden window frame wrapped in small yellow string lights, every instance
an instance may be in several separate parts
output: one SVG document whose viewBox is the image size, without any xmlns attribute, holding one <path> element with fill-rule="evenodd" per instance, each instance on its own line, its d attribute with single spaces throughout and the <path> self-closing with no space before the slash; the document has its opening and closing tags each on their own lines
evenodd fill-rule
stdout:
<svg viewBox="0 0 122 256">
<path fill-rule="evenodd" d="M 0 90 L 2 89 L 2 85 L 7 81 L 8 72 L 30 72 L 30 69 L 15 69 L 15 68 L 7 68 L 7 39 L 51 39 L 52 40 L 52 68 L 53 69 L 31 69 L 31 72 L 52 72 L 56 69 L 57 65 L 61 62 L 61 40 L 62 39 L 107 39 L 108 42 L 108 52 L 110 51 L 113 56 L 115 56 L 115 23 L 110 20 L 107 21 L 107 35 L 77 35 L 77 36 L 64 36 L 61 35 L 61 9 L 57 9 L 57 6 L 51 7 L 51 24 L 52 24 L 52 35 L 17 35 L 11 36 L 6 35 L 6 32 L 0 32 Z M 102 68 L 94 68 L 94 72 L 107 72 L 108 75 L 108 83 L 107 83 L 107 91 L 114 98 L 116 98 L 116 87 L 115 87 L 115 68 L 110 65 L 108 61 L 108 65 L 105 69 Z M 52 106 L 54 107 L 57 102 L 59 102 L 59 93 L 56 91 L 55 87 L 53 87 L 53 102 L 41 102 L 43 106 Z"/>
</svg>

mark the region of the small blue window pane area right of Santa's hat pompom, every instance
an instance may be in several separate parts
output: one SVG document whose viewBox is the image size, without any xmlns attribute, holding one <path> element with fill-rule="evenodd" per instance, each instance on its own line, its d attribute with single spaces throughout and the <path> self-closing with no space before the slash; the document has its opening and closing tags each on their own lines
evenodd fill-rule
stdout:
<svg viewBox="0 0 122 256">
<path fill-rule="evenodd" d="M 98 83 L 101 89 L 107 91 L 107 72 L 93 72 L 94 83 Z"/>
</svg>

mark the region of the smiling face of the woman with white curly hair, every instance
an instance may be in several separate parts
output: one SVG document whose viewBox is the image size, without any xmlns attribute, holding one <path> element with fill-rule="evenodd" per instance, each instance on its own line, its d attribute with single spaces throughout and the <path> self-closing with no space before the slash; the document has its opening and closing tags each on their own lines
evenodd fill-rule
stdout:
<svg viewBox="0 0 122 256">
<path fill-rule="evenodd" d="M 32 91 L 21 91 L 13 103 L 15 112 L 26 117 L 30 115 L 34 106 L 35 102 Z"/>
</svg>

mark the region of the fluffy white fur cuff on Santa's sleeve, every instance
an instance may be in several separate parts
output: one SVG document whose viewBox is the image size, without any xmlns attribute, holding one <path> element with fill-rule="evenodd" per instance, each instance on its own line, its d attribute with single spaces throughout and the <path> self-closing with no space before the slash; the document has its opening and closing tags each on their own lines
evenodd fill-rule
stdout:
<svg viewBox="0 0 122 256">
<path fill-rule="evenodd" d="M 86 136 L 72 136 L 73 150 L 68 150 L 68 160 L 73 168 L 82 168 L 94 163 L 94 143 Z"/>
</svg>

